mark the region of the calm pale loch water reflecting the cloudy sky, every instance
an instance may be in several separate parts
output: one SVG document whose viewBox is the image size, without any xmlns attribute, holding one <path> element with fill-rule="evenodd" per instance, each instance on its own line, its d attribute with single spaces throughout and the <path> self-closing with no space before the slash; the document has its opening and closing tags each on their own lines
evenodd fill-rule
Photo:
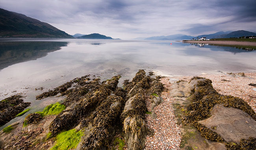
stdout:
<svg viewBox="0 0 256 150">
<path fill-rule="evenodd" d="M 0 98 L 23 93 L 35 112 L 58 101 L 35 95 L 87 74 L 102 80 L 121 74 L 122 83 L 139 69 L 169 76 L 250 72 L 255 58 L 256 51 L 173 41 L 0 40 Z"/>
</svg>

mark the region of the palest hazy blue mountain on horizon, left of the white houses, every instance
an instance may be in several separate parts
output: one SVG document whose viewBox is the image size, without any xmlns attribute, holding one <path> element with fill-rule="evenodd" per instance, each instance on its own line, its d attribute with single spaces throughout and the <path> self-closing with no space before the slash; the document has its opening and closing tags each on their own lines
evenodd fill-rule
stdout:
<svg viewBox="0 0 256 150">
<path fill-rule="evenodd" d="M 158 37 L 148 37 L 144 40 L 184 40 L 184 39 L 191 39 L 194 38 L 189 35 L 183 34 L 175 34 L 175 35 L 168 35 L 168 36 L 158 36 Z"/>
</svg>

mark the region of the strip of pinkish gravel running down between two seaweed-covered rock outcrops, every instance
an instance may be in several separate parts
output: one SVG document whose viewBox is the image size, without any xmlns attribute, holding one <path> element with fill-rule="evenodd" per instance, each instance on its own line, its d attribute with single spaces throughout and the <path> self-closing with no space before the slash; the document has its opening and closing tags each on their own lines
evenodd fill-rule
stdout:
<svg viewBox="0 0 256 150">
<path fill-rule="evenodd" d="M 163 84 L 167 84 L 168 79 L 161 79 Z M 169 88 L 165 85 L 165 88 Z M 150 114 L 146 114 L 147 126 L 154 130 L 152 137 L 147 136 L 145 150 L 179 150 L 181 142 L 180 126 L 175 122 L 173 111 L 174 99 L 170 97 L 169 92 L 162 92 L 164 102 L 154 108 L 152 112 L 157 114 L 156 119 L 152 119 Z M 151 108 L 150 99 L 147 99 L 146 106 Z"/>
</svg>

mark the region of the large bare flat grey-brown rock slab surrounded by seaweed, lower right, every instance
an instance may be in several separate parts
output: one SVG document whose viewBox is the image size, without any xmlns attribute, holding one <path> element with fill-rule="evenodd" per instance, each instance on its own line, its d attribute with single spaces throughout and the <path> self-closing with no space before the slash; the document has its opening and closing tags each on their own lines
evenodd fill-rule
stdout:
<svg viewBox="0 0 256 150">
<path fill-rule="evenodd" d="M 211 117 L 198 123 L 221 135 L 227 142 L 239 143 L 240 139 L 256 138 L 256 121 L 237 108 L 216 104 L 211 111 Z M 216 130 L 212 126 L 216 126 Z"/>
</svg>

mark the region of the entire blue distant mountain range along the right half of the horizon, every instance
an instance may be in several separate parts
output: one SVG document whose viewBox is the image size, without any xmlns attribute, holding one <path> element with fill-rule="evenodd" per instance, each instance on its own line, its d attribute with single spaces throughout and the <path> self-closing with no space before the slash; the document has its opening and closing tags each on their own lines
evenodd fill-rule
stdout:
<svg viewBox="0 0 256 150">
<path fill-rule="evenodd" d="M 239 31 L 220 31 L 209 35 L 198 35 L 196 37 L 190 36 L 190 35 L 182 35 L 182 34 L 176 34 L 176 35 L 168 35 L 168 36 L 158 36 L 158 37 L 148 37 L 148 38 L 135 38 L 134 40 L 190 40 L 190 39 L 197 39 L 197 38 L 232 38 L 232 37 L 247 37 L 247 36 L 256 36 L 256 33 L 239 30 Z"/>
</svg>

